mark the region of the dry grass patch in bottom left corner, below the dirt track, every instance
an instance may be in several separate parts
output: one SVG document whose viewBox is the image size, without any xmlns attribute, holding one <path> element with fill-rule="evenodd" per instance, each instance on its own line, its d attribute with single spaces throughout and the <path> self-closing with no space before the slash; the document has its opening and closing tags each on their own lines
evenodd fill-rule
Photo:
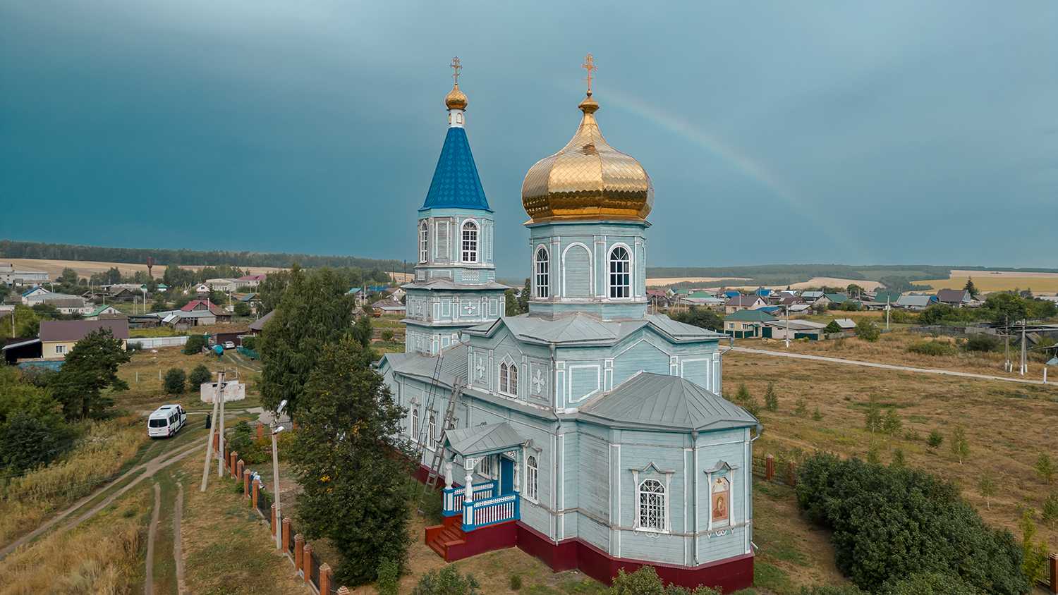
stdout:
<svg viewBox="0 0 1058 595">
<path fill-rule="evenodd" d="M 53 533 L 0 561 L 0 595 L 131 593 L 150 515 L 146 490 L 69 532 Z M 144 513 L 146 510 L 146 513 Z"/>
</svg>

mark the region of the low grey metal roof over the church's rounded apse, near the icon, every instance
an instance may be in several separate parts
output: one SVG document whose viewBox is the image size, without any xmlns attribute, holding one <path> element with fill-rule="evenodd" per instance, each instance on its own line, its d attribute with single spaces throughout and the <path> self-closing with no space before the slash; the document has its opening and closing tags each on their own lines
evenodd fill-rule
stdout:
<svg viewBox="0 0 1058 595">
<path fill-rule="evenodd" d="M 759 426 L 737 405 L 679 376 L 643 372 L 592 398 L 579 415 L 636 428 L 720 430 Z"/>
</svg>

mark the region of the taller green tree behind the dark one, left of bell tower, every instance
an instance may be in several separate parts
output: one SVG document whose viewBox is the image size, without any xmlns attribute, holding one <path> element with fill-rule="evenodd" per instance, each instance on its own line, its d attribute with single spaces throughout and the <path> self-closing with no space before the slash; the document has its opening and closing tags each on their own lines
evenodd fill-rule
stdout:
<svg viewBox="0 0 1058 595">
<path fill-rule="evenodd" d="M 261 403 L 275 409 L 286 399 L 288 411 L 294 414 L 325 346 L 348 333 L 353 318 L 351 297 L 333 269 L 306 274 L 295 267 L 289 279 L 275 315 L 264 326 L 258 351 L 263 366 Z"/>
</svg>

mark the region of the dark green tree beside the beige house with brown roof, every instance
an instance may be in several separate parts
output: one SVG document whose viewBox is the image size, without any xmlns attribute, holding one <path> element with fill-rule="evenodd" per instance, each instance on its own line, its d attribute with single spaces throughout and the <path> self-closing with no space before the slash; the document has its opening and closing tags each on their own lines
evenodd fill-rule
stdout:
<svg viewBox="0 0 1058 595">
<path fill-rule="evenodd" d="M 113 404 L 103 391 L 129 388 L 117 377 L 117 368 L 131 358 L 110 329 L 92 331 L 77 341 L 49 384 L 56 399 L 62 404 L 67 419 L 84 420 L 89 414 L 103 414 Z"/>
</svg>

